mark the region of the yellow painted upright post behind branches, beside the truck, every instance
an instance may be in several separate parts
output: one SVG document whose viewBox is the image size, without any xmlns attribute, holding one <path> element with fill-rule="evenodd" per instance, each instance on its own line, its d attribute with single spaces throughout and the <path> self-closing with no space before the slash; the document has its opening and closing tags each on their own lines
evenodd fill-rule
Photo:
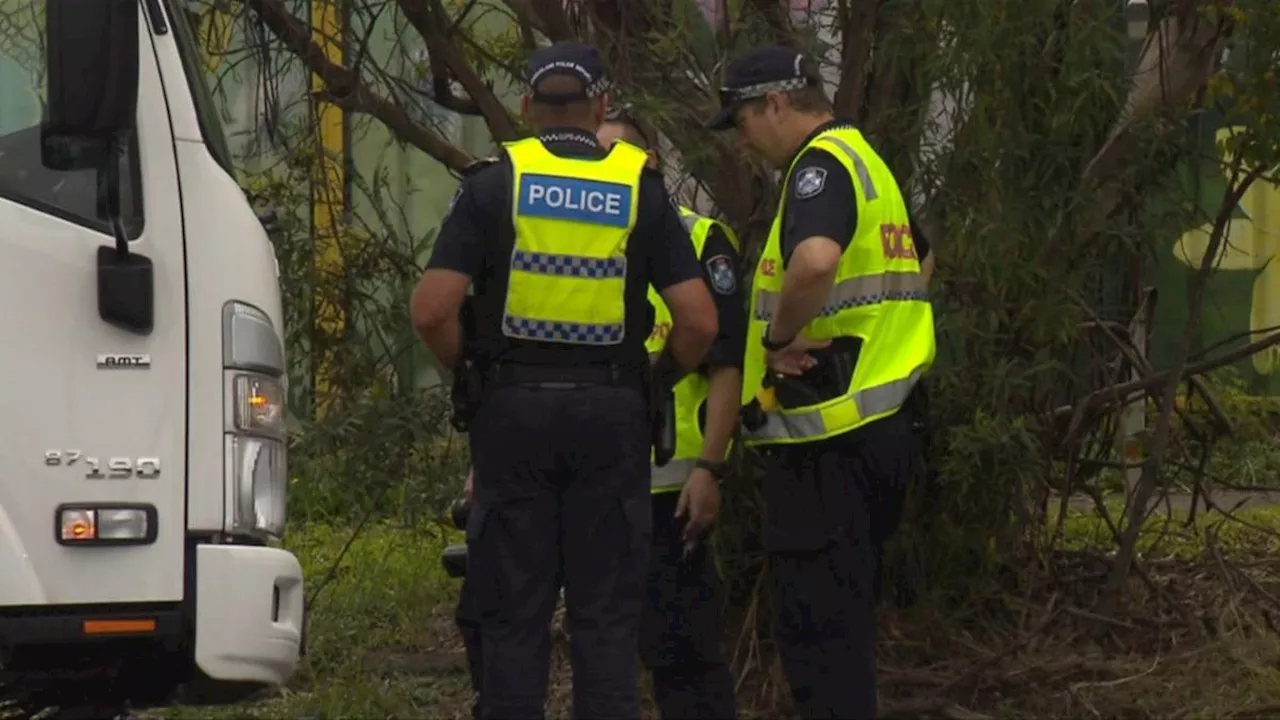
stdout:
<svg viewBox="0 0 1280 720">
<path fill-rule="evenodd" d="M 311 0 L 311 40 L 324 49 L 332 63 L 344 61 L 346 27 L 337 0 Z M 324 79 L 311 76 L 312 92 L 324 90 Z M 315 324 L 320 343 L 342 337 L 346 309 L 340 283 L 343 274 L 340 227 L 346 213 L 346 129 L 343 111 L 332 102 L 312 101 L 316 168 L 311 181 L 311 228 L 315 242 Z M 315 414 L 320 416 L 334 387 L 333 354 L 324 347 L 312 350 L 315 373 Z"/>
</svg>

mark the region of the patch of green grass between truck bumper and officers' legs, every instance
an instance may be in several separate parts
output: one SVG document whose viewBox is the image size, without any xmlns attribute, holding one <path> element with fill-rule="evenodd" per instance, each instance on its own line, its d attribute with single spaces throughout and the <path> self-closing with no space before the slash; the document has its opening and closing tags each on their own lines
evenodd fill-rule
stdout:
<svg viewBox="0 0 1280 720">
<path fill-rule="evenodd" d="M 351 538 L 348 528 L 293 528 L 308 598 Z M 470 710 L 465 659 L 452 624 L 458 582 L 439 528 L 366 527 L 310 606 L 307 656 L 276 698 L 229 707 L 173 707 L 147 717 L 453 717 Z"/>
</svg>

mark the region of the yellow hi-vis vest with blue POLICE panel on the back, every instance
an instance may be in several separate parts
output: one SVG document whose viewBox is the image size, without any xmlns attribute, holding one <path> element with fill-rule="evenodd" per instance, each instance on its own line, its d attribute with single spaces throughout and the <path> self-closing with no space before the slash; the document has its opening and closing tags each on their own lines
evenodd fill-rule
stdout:
<svg viewBox="0 0 1280 720">
<path fill-rule="evenodd" d="M 627 240 L 645 154 L 617 143 L 599 160 L 559 158 L 536 137 L 504 143 L 515 173 L 516 243 L 502 332 L 609 346 L 626 334 Z"/>
</svg>

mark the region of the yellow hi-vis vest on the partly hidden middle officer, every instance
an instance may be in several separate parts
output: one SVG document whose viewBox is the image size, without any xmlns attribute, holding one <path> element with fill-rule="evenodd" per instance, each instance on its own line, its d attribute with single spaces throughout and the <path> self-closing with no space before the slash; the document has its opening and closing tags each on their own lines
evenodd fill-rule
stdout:
<svg viewBox="0 0 1280 720">
<path fill-rule="evenodd" d="M 680 219 L 685 223 L 690 240 L 694 241 L 694 255 L 699 260 L 707 245 L 707 236 L 714 225 L 719 225 L 735 250 L 739 249 L 737 236 L 724 223 L 699 215 L 689 208 L 680 209 Z M 654 310 L 653 332 L 649 333 L 644 347 L 652 361 L 667 347 L 672 323 L 671 310 L 653 286 L 649 286 L 649 304 Z M 681 489 L 685 479 L 694 471 L 694 464 L 703 452 L 703 428 L 698 424 L 698 416 L 707 404 L 709 389 L 707 375 L 701 373 L 690 373 L 676 383 L 676 452 L 662 468 L 650 468 L 650 491 L 654 495 Z"/>
</svg>

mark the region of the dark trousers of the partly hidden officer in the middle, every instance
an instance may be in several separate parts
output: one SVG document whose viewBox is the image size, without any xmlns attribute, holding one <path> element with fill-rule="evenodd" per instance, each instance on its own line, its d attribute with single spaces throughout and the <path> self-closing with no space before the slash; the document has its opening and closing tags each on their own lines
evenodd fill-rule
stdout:
<svg viewBox="0 0 1280 720">
<path fill-rule="evenodd" d="M 640 657 L 653 673 L 664 720 L 737 716 L 733 676 L 721 652 L 722 583 L 707 542 L 687 556 L 676 520 L 678 492 L 653 496 L 653 547 L 640 620 Z"/>
</svg>

